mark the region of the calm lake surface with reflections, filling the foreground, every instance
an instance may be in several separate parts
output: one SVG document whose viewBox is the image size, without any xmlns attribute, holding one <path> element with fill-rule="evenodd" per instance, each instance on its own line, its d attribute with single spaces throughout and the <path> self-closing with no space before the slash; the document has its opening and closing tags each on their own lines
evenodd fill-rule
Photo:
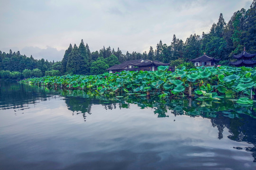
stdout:
<svg viewBox="0 0 256 170">
<path fill-rule="evenodd" d="M 255 109 L 0 81 L 0 170 L 254 170 Z"/>
</svg>

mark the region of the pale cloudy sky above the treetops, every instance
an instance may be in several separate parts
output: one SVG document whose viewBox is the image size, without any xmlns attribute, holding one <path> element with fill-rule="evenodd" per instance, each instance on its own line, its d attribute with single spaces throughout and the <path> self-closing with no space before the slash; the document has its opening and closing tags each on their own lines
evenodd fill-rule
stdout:
<svg viewBox="0 0 256 170">
<path fill-rule="evenodd" d="M 143 53 L 175 34 L 209 33 L 222 13 L 226 22 L 253 0 L 0 0 L 0 51 L 60 61 L 83 39 L 91 51 L 103 46 Z"/>
</svg>

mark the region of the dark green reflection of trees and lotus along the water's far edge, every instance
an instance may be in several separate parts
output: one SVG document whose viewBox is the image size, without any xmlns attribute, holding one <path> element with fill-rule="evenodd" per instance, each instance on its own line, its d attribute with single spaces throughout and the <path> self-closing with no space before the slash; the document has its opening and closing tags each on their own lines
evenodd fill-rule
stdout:
<svg viewBox="0 0 256 170">
<path fill-rule="evenodd" d="M 108 98 L 100 95 L 91 97 L 82 90 L 48 89 L 46 87 L 20 85 L 15 82 L 9 83 L 3 81 L 1 81 L 0 89 L 0 110 L 26 109 L 28 104 L 46 101 L 49 98 L 59 97 L 61 95 L 64 96 L 63 100 L 68 110 L 71 110 L 73 114 L 82 114 L 84 121 L 86 121 L 88 114 L 93 114 L 93 105 L 102 105 L 105 110 L 116 110 L 128 109 L 131 107 L 131 104 L 136 104 L 141 109 L 152 109 L 152 113 L 157 115 L 158 118 L 168 118 L 170 114 L 173 114 L 174 117 L 183 115 L 210 119 L 212 127 L 218 129 L 216 138 L 223 138 L 223 131 L 226 127 L 230 133 L 228 136 L 230 140 L 253 144 L 254 147 L 234 148 L 238 150 L 245 149 L 251 152 L 254 162 L 256 162 L 255 105 L 243 106 L 229 100 L 223 102 L 191 99 L 159 100 L 154 96 L 146 98 L 136 97 L 134 95 L 125 98 Z M 124 152 L 127 152 L 126 154 L 128 155 L 132 154 L 128 151 Z M 153 156 L 152 159 L 160 158 Z"/>
</svg>

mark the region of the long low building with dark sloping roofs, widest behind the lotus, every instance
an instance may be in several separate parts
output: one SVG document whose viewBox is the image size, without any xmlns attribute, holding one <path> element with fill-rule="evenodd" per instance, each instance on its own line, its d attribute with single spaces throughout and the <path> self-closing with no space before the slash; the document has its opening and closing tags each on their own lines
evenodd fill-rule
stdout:
<svg viewBox="0 0 256 170">
<path fill-rule="evenodd" d="M 120 71 L 155 71 L 158 66 L 168 66 L 170 63 L 162 63 L 160 61 L 151 61 L 149 59 L 135 59 L 125 61 L 119 65 L 112 66 L 107 70 L 109 73 L 115 73 Z M 169 68 L 171 71 L 174 71 L 174 68 Z"/>
</svg>

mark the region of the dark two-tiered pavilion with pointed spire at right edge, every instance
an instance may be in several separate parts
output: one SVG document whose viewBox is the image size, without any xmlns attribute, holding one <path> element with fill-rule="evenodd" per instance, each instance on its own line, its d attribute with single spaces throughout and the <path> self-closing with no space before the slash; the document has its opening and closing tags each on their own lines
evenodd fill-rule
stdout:
<svg viewBox="0 0 256 170">
<path fill-rule="evenodd" d="M 233 58 L 238 60 L 235 62 L 230 62 L 230 64 L 237 67 L 241 67 L 241 66 L 254 67 L 254 65 L 256 64 L 256 60 L 252 60 L 252 58 L 255 56 L 256 56 L 256 53 L 249 54 L 246 52 L 244 47 L 244 51 L 241 54 L 233 55 Z"/>
</svg>

